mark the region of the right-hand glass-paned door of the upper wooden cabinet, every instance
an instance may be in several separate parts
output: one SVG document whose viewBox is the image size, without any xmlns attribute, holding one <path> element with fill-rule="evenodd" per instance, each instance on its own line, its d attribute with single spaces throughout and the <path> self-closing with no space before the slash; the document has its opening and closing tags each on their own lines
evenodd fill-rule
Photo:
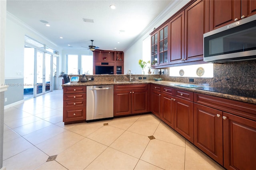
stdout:
<svg viewBox="0 0 256 170">
<path fill-rule="evenodd" d="M 168 24 L 159 31 L 159 65 L 166 65 L 168 61 Z"/>
</svg>

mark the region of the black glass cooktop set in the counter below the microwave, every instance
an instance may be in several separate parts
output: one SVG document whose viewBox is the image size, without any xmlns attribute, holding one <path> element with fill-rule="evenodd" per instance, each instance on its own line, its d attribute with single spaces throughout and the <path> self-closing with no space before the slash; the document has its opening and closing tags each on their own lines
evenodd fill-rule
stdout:
<svg viewBox="0 0 256 170">
<path fill-rule="evenodd" d="M 242 96 L 246 98 L 256 98 L 256 90 L 243 90 L 237 88 L 227 88 L 227 87 L 202 87 L 196 88 L 198 90 L 206 90 L 210 92 L 231 94 L 235 96 Z"/>
</svg>

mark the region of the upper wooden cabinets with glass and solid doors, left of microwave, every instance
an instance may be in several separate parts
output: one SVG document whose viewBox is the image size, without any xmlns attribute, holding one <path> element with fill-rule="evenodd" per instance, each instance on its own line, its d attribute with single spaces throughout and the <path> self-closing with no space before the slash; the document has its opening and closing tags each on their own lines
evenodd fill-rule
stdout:
<svg viewBox="0 0 256 170">
<path fill-rule="evenodd" d="M 189 2 L 150 34 L 152 67 L 204 63 L 203 34 L 210 30 L 209 4 L 208 0 Z M 168 34 L 165 34 L 167 30 Z M 168 44 L 167 49 L 165 44 Z"/>
</svg>

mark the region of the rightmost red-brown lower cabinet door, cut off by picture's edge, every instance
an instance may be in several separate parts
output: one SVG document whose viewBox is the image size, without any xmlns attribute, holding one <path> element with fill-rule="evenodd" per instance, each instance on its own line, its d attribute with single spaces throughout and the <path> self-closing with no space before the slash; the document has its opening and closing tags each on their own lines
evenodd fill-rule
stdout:
<svg viewBox="0 0 256 170">
<path fill-rule="evenodd" d="M 255 143 L 256 121 L 223 113 L 224 168 L 255 169 Z"/>
</svg>

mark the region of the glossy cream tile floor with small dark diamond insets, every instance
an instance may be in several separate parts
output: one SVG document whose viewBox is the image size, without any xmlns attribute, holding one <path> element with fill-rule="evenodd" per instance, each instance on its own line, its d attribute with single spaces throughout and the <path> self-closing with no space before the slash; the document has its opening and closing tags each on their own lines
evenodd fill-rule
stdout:
<svg viewBox="0 0 256 170">
<path fill-rule="evenodd" d="M 64 125 L 62 96 L 56 90 L 4 111 L 7 170 L 223 169 L 153 114 Z"/>
</svg>

